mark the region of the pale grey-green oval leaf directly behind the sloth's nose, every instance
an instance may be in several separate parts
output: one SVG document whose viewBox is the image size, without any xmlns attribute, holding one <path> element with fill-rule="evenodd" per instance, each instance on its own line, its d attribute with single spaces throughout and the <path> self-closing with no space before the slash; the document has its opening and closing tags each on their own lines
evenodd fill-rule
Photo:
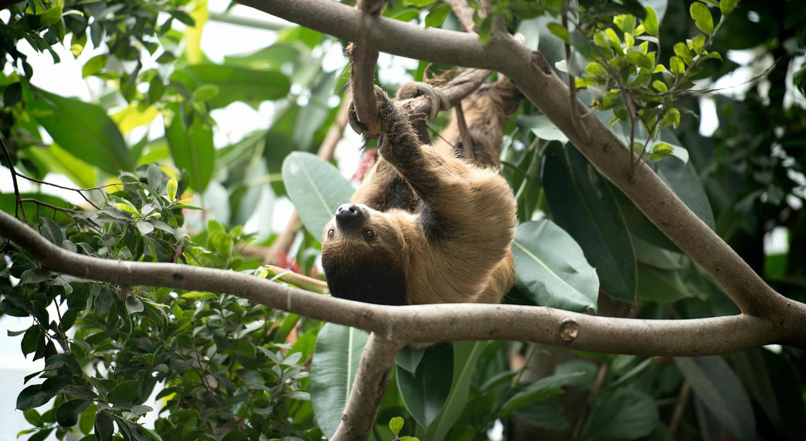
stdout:
<svg viewBox="0 0 806 441">
<path fill-rule="evenodd" d="M 285 158 L 283 181 L 302 223 L 317 239 L 336 208 L 354 191 L 333 164 L 306 152 L 293 152 Z"/>
</svg>

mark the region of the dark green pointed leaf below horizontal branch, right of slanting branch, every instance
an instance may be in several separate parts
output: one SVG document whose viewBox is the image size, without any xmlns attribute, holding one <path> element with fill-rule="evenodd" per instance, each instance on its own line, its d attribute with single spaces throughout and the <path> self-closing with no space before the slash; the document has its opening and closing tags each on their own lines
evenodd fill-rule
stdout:
<svg viewBox="0 0 806 441">
<path fill-rule="evenodd" d="M 451 393 L 453 345 L 428 347 L 414 375 L 397 369 L 397 388 L 406 409 L 420 426 L 428 429 Z"/>
</svg>

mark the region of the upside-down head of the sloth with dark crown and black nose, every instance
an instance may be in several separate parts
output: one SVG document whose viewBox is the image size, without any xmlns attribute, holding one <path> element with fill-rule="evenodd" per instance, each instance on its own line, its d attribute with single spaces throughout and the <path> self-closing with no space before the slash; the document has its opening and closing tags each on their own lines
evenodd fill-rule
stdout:
<svg viewBox="0 0 806 441">
<path fill-rule="evenodd" d="M 322 268 L 334 297 L 406 305 L 404 239 L 394 214 L 339 206 L 322 237 Z"/>
</svg>

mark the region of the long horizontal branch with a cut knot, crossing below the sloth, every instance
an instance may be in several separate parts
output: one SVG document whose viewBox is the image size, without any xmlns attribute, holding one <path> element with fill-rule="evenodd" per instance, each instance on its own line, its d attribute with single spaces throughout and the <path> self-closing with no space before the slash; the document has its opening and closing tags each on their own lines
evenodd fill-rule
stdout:
<svg viewBox="0 0 806 441">
<path fill-rule="evenodd" d="M 234 271 L 89 257 L 48 242 L 0 212 L 0 236 L 43 268 L 117 285 L 164 286 L 229 293 L 305 317 L 356 327 L 401 344 L 460 340 L 525 340 L 573 349 L 644 356 L 704 356 L 771 343 L 806 347 L 803 328 L 748 314 L 690 320 L 639 320 L 577 314 L 543 306 L 441 304 L 380 306 L 290 288 Z"/>
</svg>

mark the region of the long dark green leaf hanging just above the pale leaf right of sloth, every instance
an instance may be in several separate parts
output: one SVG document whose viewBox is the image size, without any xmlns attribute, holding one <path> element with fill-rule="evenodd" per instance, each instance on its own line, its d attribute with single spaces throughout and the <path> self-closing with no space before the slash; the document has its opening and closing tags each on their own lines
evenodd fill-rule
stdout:
<svg viewBox="0 0 806 441">
<path fill-rule="evenodd" d="M 541 177 L 554 221 L 580 244 L 601 288 L 634 302 L 633 243 L 605 180 L 576 148 L 556 143 L 546 149 Z"/>
</svg>

